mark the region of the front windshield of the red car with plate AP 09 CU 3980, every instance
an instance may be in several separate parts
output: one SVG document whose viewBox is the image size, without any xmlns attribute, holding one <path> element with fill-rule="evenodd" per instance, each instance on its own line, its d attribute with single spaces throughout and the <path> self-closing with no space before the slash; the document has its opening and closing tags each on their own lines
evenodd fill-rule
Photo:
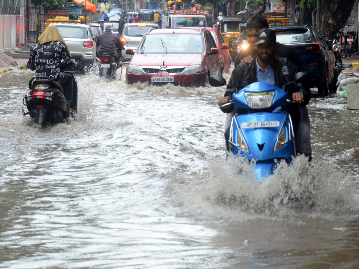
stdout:
<svg viewBox="0 0 359 269">
<path fill-rule="evenodd" d="M 140 54 L 203 54 L 201 34 L 148 34 L 137 51 Z"/>
</svg>

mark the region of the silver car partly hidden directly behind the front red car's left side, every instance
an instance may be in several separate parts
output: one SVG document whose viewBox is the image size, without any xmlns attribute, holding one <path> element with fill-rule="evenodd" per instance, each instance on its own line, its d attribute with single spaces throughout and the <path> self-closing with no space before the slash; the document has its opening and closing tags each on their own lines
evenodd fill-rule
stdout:
<svg viewBox="0 0 359 269">
<path fill-rule="evenodd" d="M 120 36 L 120 40 L 123 44 L 123 47 L 125 48 L 125 50 L 122 51 L 122 57 L 124 58 L 125 61 L 129 61 L 132 58 L 132 55 L 126 54 L 126 49 L 132 48 L 133 51 L 135 52 L 144 34 L 152 28 L 158 29 L 158 24 L 156 23 L 123 24 L 123 31 Z"/>
</svg>

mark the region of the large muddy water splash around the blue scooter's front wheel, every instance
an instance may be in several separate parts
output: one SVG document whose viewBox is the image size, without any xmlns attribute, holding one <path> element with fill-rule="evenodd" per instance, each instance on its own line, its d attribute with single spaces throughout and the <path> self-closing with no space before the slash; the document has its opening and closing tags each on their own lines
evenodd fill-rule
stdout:
<svg viewBox="0 0 359 269">
<path fill-rule="evenodd" d="M 289 166 L 281 162 L 261 182 L 252 180 L 251 165 L 233 156 L 225 163 L 211 160 L 208 172 L 200 178 L 172 176 L 168 191 L 177 206 L 203 220 L 297 220 L 303 214 L 333 218 L 359 213 L 358 189 L 348 183 L 349 175 L 321 160 L 308 163 L 299 156 Z"/>
</svg>

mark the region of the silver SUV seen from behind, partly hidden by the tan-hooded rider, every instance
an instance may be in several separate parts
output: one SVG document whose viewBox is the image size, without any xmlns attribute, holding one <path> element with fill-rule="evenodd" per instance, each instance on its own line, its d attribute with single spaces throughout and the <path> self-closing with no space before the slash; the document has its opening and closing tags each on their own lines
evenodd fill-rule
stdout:
<svg viewBox="0 0 359 269">
<path fill-rule="evenodd" d="M 69 47 L 71 56 L 81 71 L 92 67 L 96 58 L 96 44 L 89 25 L 79 23 L 53 23 Z"/>
</svg>

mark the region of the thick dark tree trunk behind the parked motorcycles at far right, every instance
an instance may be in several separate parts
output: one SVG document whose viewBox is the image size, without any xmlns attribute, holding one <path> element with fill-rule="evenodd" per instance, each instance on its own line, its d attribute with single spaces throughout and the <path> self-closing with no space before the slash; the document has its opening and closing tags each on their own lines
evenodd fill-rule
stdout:
<svg viewBox="0 0 359 269">
<path fill-rule="evenodd" d="M 338 30 L 344 28 L 354 3 L 355 0 L 321 0 L 319 32 L 330 40 L 336 38 Z"/>
</svg>

